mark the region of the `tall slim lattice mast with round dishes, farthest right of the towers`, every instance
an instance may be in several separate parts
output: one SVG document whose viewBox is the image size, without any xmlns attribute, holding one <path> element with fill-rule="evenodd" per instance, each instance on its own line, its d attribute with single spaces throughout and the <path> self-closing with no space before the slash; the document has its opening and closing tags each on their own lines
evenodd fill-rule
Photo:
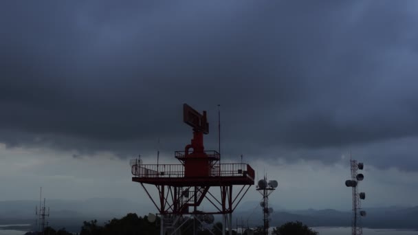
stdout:
<svg viewBox="0 0 418 235">
<path fill-rule="evenodd" d="M 361 162 L 351 159 L 351 179 L 345 181 L 345 186 L 351 187 L 353 192 L 353 217 L 351 219 L 351 235 L 362 235 L 362 221 L 361 217 L 366 216 L 366 212 L 362 209 L 360 199 L 366 199 L 365 192 L 358 192 L 358 183 L 364 179 L 363 174 L 358 174 L 358 170 L 363 170 L 364 165 Z"/>
</svg>

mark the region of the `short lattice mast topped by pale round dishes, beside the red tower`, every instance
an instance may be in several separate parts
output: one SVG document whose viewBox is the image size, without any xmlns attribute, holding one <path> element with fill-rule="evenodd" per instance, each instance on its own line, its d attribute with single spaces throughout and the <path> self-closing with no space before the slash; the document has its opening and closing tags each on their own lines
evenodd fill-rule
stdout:
<svg viewBox="0 0 418 235">
<path fill-rule="evenodd" d="M 263 195 L 263 201 L 260 202 L 260 205 L 263 208 L 264 235 L 269 234 L 269 216 L 273 213 L 273 208 L 269 208 L 269 196 L 272 194 L 273 190 L 276 190 L 277 186 L 278 183 L 275 180 L 270 180 L 267 183 L 267 175 L 264 176 L 264 179 L 260 179 L 259 183 L 257 184 L 256 190 L 259 191 L 261 195 Z"/>
</svg>

